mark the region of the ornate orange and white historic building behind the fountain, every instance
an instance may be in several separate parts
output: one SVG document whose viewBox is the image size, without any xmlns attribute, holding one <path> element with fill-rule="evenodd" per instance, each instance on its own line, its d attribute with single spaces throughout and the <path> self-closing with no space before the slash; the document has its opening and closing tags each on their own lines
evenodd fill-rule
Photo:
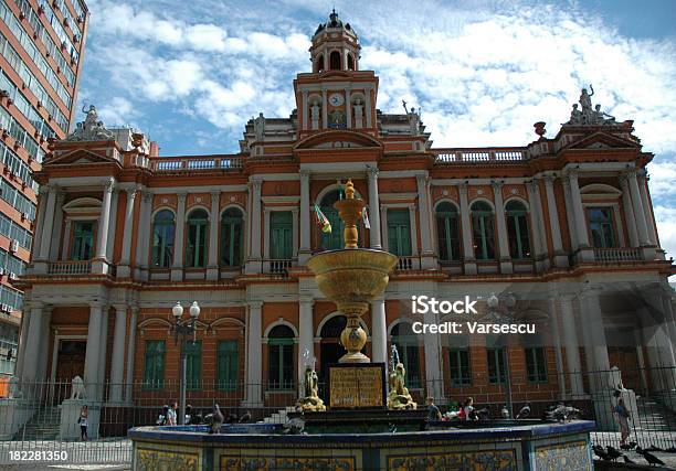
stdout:
<svg viewBox="0 0 676 471">
<path fill-rule="evenodd" d="M 653 156 L 582 92 L 554 138 L 522 147 L 437 149 L 413 108 L 378 109 L 378 77 L 335 13 L 294 81 L 297 109 L 246 124 L 235 154 L 159 157 L 140 133 L 106 130 L 91 109 L 53 141 L 38 180 L 33 260 L 18 375 L 84 377 L 110 403 L 162 393 L 178 378 L 171 308 L 198 301 L 186 345 L 188 388 L 293 404 L 308 350 L 324 368 L 342 354 L 345 319 L 306 267 L 340 248 L 332 203 L 352 178 L 368 202 L 360 246 L 400 257 L 363 317 L 367 354 L 395 344 L 411 389 L 441 399 L 582 397 L 606 385 L 581 372 L 620 367 L 635 389 L 673 379 L 674 272 L 659 247 L 645 165 Z M 331 233 L 316 223 L 315 205 Z M 415 334 L 412 296 L 477 299 L 480 315 L 536 334 Z M 507 371 L 508 370 L 508 371 Z M 104 387 L 93 387 L 104 384 Z M 139 387 L 131 387 L 137 383 Z M 424 392 L 424 393 L 423 393 Z"/>
</svg>

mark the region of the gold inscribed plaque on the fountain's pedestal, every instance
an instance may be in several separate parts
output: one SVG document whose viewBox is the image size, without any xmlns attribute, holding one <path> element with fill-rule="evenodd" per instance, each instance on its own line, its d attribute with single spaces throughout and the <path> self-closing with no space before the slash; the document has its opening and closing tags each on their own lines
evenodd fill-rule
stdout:
<svg viewBox="0 0 676 471">
<path fill-rule="evenodd" d="M 328 366 L 328 397 L 331 409 L 384 407 L 384 363 L 337 363 Z"/>
</svg>

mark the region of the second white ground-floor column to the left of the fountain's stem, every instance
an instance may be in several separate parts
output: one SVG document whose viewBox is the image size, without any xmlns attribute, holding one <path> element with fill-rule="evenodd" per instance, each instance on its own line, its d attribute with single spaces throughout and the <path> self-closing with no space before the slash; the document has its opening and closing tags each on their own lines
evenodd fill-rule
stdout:
<svg viewBox="0 0 676 471">
<path fill-rule="evenodd" d="M 263 404 L 263 302 L 249 302 L 249 335 L 246 346 L 246 404 L 250 407 L 258 407 Z"/>
</svg>

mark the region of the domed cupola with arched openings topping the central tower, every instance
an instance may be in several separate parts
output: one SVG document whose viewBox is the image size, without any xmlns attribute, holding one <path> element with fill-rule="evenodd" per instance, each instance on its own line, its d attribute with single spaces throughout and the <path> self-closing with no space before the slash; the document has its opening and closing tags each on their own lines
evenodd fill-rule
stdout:
<svg viewBox="0 0 676 471">
<path fill-rule="evenodd" d="M 334 9 L 326 23 L 319 23 L 313 35 L 309 50 L 313 72 L 357 71 L 359 63 L 359 38 L 350 25 L 344 23 Z"/>
</svg>

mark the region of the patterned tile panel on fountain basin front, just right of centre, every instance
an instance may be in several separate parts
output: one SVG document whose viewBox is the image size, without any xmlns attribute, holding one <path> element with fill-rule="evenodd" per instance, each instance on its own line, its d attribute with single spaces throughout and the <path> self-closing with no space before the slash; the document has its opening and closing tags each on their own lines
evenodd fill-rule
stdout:
<svg viewBox="0 0 676 471">
<path fill-rule="evenodd" d="M 516 469 L 517 460 L 514 450 L 454 451 L 430 454 L 426 454 L 425 450 L 420 450 L 411 456 L 388 456 L 388 470 L 391 471 L 516 471 Z"/>
</svg>

